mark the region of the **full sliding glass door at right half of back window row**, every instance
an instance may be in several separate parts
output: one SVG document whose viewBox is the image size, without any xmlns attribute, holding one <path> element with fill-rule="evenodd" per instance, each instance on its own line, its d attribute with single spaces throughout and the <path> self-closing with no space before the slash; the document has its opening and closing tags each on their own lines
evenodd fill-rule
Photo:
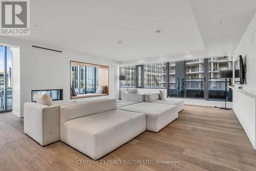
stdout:
<svg viewBox="0 0 256 171">
<path fill-rule="evenodd" d="M 169 97 L 232 101 L 231 78 L 219 78 L 232 70 L 232 57 L 211 57 L 169 62 Z"/>
</svg>

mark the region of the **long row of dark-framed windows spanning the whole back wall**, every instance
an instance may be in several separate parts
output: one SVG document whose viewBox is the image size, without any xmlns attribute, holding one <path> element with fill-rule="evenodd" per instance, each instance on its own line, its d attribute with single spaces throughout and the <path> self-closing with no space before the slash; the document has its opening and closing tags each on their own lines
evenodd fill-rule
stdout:
<svg viewBox="0 0 256 171">
<path fill-rule="evenodd" d="M 227 91 L 227 100 L 232 101 L 231 89 L 226 87 L 231 84 L 231 78 L 219 78 L 222 70 L 232 70 L 232 57 L 122 66 L 120 75 L 125 75 L 126 80 L 121 81 L 121 87 L 167 89 L 169 97 L 218 101 L 225 100 Z"/>
</svg>

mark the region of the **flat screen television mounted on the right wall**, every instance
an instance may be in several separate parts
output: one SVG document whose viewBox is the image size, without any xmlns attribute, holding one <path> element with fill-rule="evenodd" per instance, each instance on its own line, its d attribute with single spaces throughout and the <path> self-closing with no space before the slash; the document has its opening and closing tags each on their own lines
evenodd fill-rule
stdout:
<svg viewBox="0 0 256 171">
<path fill-rule="evenodd" d="M 234 62 L 234 83 L 244 84 L 245 70 L 242 55 L 239 55 L 237 60 Z"/>
</svg>

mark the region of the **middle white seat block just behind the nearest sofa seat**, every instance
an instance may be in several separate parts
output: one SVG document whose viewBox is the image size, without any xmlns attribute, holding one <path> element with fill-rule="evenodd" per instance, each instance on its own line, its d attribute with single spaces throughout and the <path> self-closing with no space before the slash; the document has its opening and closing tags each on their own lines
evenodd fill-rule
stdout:
<svg viewBox="0 0 256 171">
<path fill-rule="evenodd" d="M 178 106 L 173 104 L 141 102 L 118 109 L 146 114 L 146 130 L 153 132 L 160 131 L 164 126 L 178 118 Z"/>
</svg>

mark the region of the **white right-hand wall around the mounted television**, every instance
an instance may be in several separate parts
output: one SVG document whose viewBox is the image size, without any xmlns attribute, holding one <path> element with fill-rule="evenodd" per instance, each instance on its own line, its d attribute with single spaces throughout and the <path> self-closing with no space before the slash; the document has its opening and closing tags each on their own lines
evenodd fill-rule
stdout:
<svg viewBox="0 0 256 171">
<path fill-rule="evenodd" d="M 233 90 L 233 111 L 256 149 L 256 14 L 234 52 L 233 61 L 239 55 L 243 56 L 246 64 L 246 80 L 243 90 L 237 90 L 238 85 Z"/>
</svg>

